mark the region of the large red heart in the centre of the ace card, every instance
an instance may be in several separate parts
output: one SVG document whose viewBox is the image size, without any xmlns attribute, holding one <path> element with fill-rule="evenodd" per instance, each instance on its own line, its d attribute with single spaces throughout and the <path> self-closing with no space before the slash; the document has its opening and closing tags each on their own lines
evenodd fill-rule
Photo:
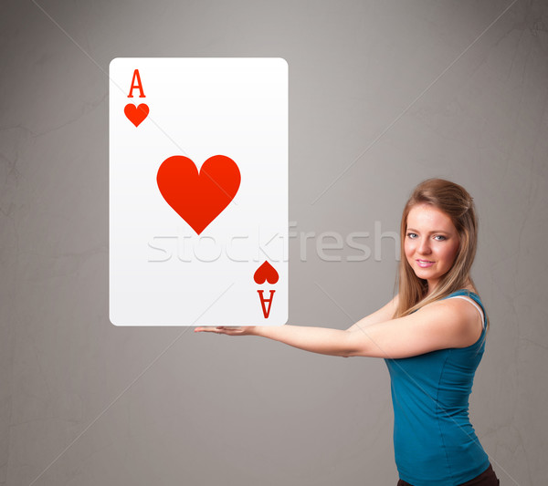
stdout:
<svg viewBox="0 0 548 486">
<path fill-rule="evenodd" d="M 240 172 L 225 155 L 205 160 L 199 173 L 188 157 L 174 155 L 163 160 L 156 181 L 165 202 L 200 234 L 236 196 Z"/>
</svg>

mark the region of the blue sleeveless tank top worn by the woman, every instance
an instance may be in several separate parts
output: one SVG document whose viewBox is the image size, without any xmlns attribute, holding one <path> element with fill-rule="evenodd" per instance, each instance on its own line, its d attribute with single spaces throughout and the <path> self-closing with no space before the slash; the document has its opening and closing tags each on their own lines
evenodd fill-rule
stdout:
<svg viewBox="0 0 548 486">
<path fill-rule="evenodd" d="M 458 290 L 483 309 L 479 295 Z M 483 309 L 485 316 L 485 310 Z M 485 348 L 486 322 L 476 343 L 416 357 L 385 359 L 394 405 L 395 463 L 414 486 L 457 486 L 489 468 L 469 421 L 469 395 Z"/>
</svg>

